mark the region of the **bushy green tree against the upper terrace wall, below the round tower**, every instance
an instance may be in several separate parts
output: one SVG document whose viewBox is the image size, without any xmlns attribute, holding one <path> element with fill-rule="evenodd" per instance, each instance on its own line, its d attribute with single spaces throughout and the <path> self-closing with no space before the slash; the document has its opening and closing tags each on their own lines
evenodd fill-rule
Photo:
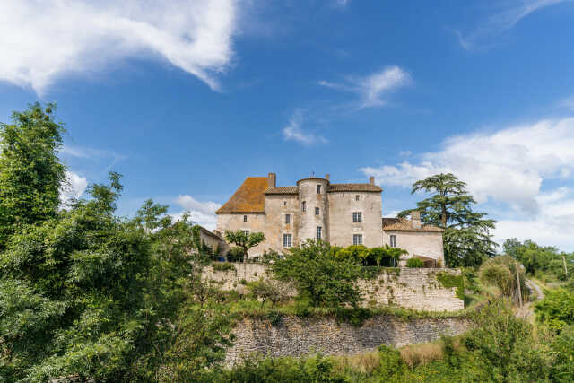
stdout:
<svg viewBox="0 0 574 383">
<path fill-rule="evenodd" d="M 328 243 L 308 239 L 284 257 L 272 256 L 269 266 L 278 280 L 293 283 L 300 296 L 315 306 L 357 306 L 362 300 L 357 287 L 361 265 L 348 258 L 336 259 L 330 250 Z"/>
</svg>

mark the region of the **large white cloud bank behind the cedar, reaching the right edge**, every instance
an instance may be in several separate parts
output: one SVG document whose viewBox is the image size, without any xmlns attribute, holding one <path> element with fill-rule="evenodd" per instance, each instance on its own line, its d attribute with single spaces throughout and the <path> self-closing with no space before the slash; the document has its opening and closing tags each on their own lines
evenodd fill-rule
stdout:
<svg viewBox="0 0 574 383">
<path fill-rule="evenodd" d="M 419 161 L 361 171 L 381 184 L 403 187 L 432 174 L 452 172 L 468 184 L 477 202 L 510 208 L 502 214 L 498 238 L 530 235 L 555 239 L 557 244 L 570 241 L 574 249 L 574 196 L 564 187 L 574 170 L 572 132 L 574 118 L 563 118 L 459 135 L 446 140 L 439 152 L 422 153 Z M 560 187 L 543 190 L 544 182 Z"/>
</svg>

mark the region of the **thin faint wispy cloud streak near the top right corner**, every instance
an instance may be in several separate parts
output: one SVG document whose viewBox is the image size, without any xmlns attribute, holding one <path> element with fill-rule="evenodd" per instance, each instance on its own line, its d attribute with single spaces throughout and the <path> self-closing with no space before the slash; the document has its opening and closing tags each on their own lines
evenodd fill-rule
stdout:
<svg viewBox="0 0 574 383">
<path fill-rule="evenodd" d="M 501 33 L 514 28 L 517 22 L 524 19 L 530 13 L 543 9 L 545 7 L 564 3 L 570 0 L 515 0 L 504 2 L 504 9 L 491 14 L 478 28 L 466 34 L 460 30 L 453 30 L 457 35 L 461 47 L 466 50 L 484 48 L 491 44 L 491 39 Z"/>
</svg>

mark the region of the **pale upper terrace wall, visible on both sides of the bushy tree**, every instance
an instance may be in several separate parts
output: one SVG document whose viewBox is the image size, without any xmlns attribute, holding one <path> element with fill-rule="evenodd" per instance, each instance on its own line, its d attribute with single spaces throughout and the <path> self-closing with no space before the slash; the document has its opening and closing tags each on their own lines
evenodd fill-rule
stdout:
<svg viewBox="0 0 574 383">
<path fill-rule="evenodd" d="M 246 292 L 245 284 L 268 278 L 264 264 L 233 264 L 235 271 L 213 271 L 211 266 L 204 269 L 203 277 L 222 284 L 223 290 Z M 448 268 L 400 268 L 386 269 L 377 277 L 360 281 L 364 293 L 364 305 L 376 306 L 393 304 L 410 309 L 428 311 L 457 311 L 465 303 L 456 296 L 455 288 L 445 288 L 437 280 L 439 272 L 460 274 Z"/>
</svg>

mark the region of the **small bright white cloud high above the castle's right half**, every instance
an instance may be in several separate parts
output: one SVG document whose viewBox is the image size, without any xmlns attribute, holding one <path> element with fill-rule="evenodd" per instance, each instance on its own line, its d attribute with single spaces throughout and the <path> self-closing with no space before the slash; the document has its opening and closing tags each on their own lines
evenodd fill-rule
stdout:
<svg viewBox="0 0 574 383">
<path fill-rule="evenodd" d="M 361 96 L 360 108 L 379 107 L 387 103 L 387 95 L 412 82 L 411 75 L 397 65 L 387 66 L 365 77 L 348 77 L 345 83 L 325 80 L 319 85 L 340 91 L 352 91 Z"/>
</svg>

